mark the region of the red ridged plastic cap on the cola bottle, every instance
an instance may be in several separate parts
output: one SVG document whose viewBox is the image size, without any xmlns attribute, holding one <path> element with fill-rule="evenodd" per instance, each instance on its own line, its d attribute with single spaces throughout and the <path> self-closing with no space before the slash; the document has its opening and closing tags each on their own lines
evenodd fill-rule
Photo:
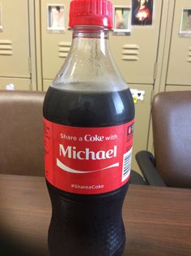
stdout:
<svg viewBox="0 0 191 256">
<path fill-rule="evenodd" d="M 69 26 L 88 25 L 112 28 L 112 2 L 108 0 L 72 0 Z"/>
</svg>

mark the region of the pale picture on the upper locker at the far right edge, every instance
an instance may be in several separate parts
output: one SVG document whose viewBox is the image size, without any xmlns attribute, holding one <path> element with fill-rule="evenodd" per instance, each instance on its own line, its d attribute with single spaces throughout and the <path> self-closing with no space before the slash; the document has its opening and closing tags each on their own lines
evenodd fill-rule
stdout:
<svg viewBox="0 0 191 256">
<path fill-rule="evenodd" d="M 191 37 L 191 7 L 182 8 L 180 20 L 180 36 Z"/>
</svg>

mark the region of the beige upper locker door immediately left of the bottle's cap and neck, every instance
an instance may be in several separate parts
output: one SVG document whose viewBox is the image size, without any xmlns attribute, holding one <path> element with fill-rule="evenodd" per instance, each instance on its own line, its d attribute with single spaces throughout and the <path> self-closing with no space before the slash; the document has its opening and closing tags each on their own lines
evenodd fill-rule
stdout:
<svg viewBox="0 0 191 256">
<path fill-rule="evenodd" d="M 51 6 L 52 5 L 52 6 Z M 62 15 L 65 15 L 65 31 L 58 29 L 51 30 L 49 22 L 51 22 L 51 13 L 55 14 L 55 7 L 62 5 L 60 10 L 64 8 Z M 42 69 L 43 79 L 53 79 L 70 50 L 71 32 L 68 31 L 68 15 L 69 15 L 69 0 L 42 0 L 41 1 L 41 35 L 42 35 Z M 52 8 L 52 9 L 51 9 Z M 52 12 L 49 13 L 49 10 Z M 61 11 L 60 11 L 61 12 Z M 48 18 L 50 17 L 50 18 Z"/>
</svg>

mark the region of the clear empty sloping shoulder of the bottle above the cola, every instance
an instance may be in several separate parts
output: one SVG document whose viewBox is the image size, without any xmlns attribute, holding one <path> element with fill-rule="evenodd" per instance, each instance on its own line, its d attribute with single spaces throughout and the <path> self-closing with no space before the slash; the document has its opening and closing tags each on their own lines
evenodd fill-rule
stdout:
<svg viewBox="0 0 191 256">
<path fill-rule="evenodd" d="M 85 86 L 84 86 L 85 85 Z M 52 86 L 61 89 L 117 91 L 127 89 L 104 38 L 75 38 Z M 82 87 L 83 86 L 83 87 Z"/>
</svg>

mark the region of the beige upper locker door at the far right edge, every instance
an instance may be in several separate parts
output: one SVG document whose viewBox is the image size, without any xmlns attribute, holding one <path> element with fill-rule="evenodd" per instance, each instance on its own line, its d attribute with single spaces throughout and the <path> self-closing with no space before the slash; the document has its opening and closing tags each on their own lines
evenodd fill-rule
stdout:
<svg viewBox="0 0 191 256">
<path fill-rule="evenodd" d="M 191 1 L 176 1 L 167 85 L 191 85 L 191 37 L 180 37 L 179 34 L 182 8 L 191 9 Z"/>
</svg>

